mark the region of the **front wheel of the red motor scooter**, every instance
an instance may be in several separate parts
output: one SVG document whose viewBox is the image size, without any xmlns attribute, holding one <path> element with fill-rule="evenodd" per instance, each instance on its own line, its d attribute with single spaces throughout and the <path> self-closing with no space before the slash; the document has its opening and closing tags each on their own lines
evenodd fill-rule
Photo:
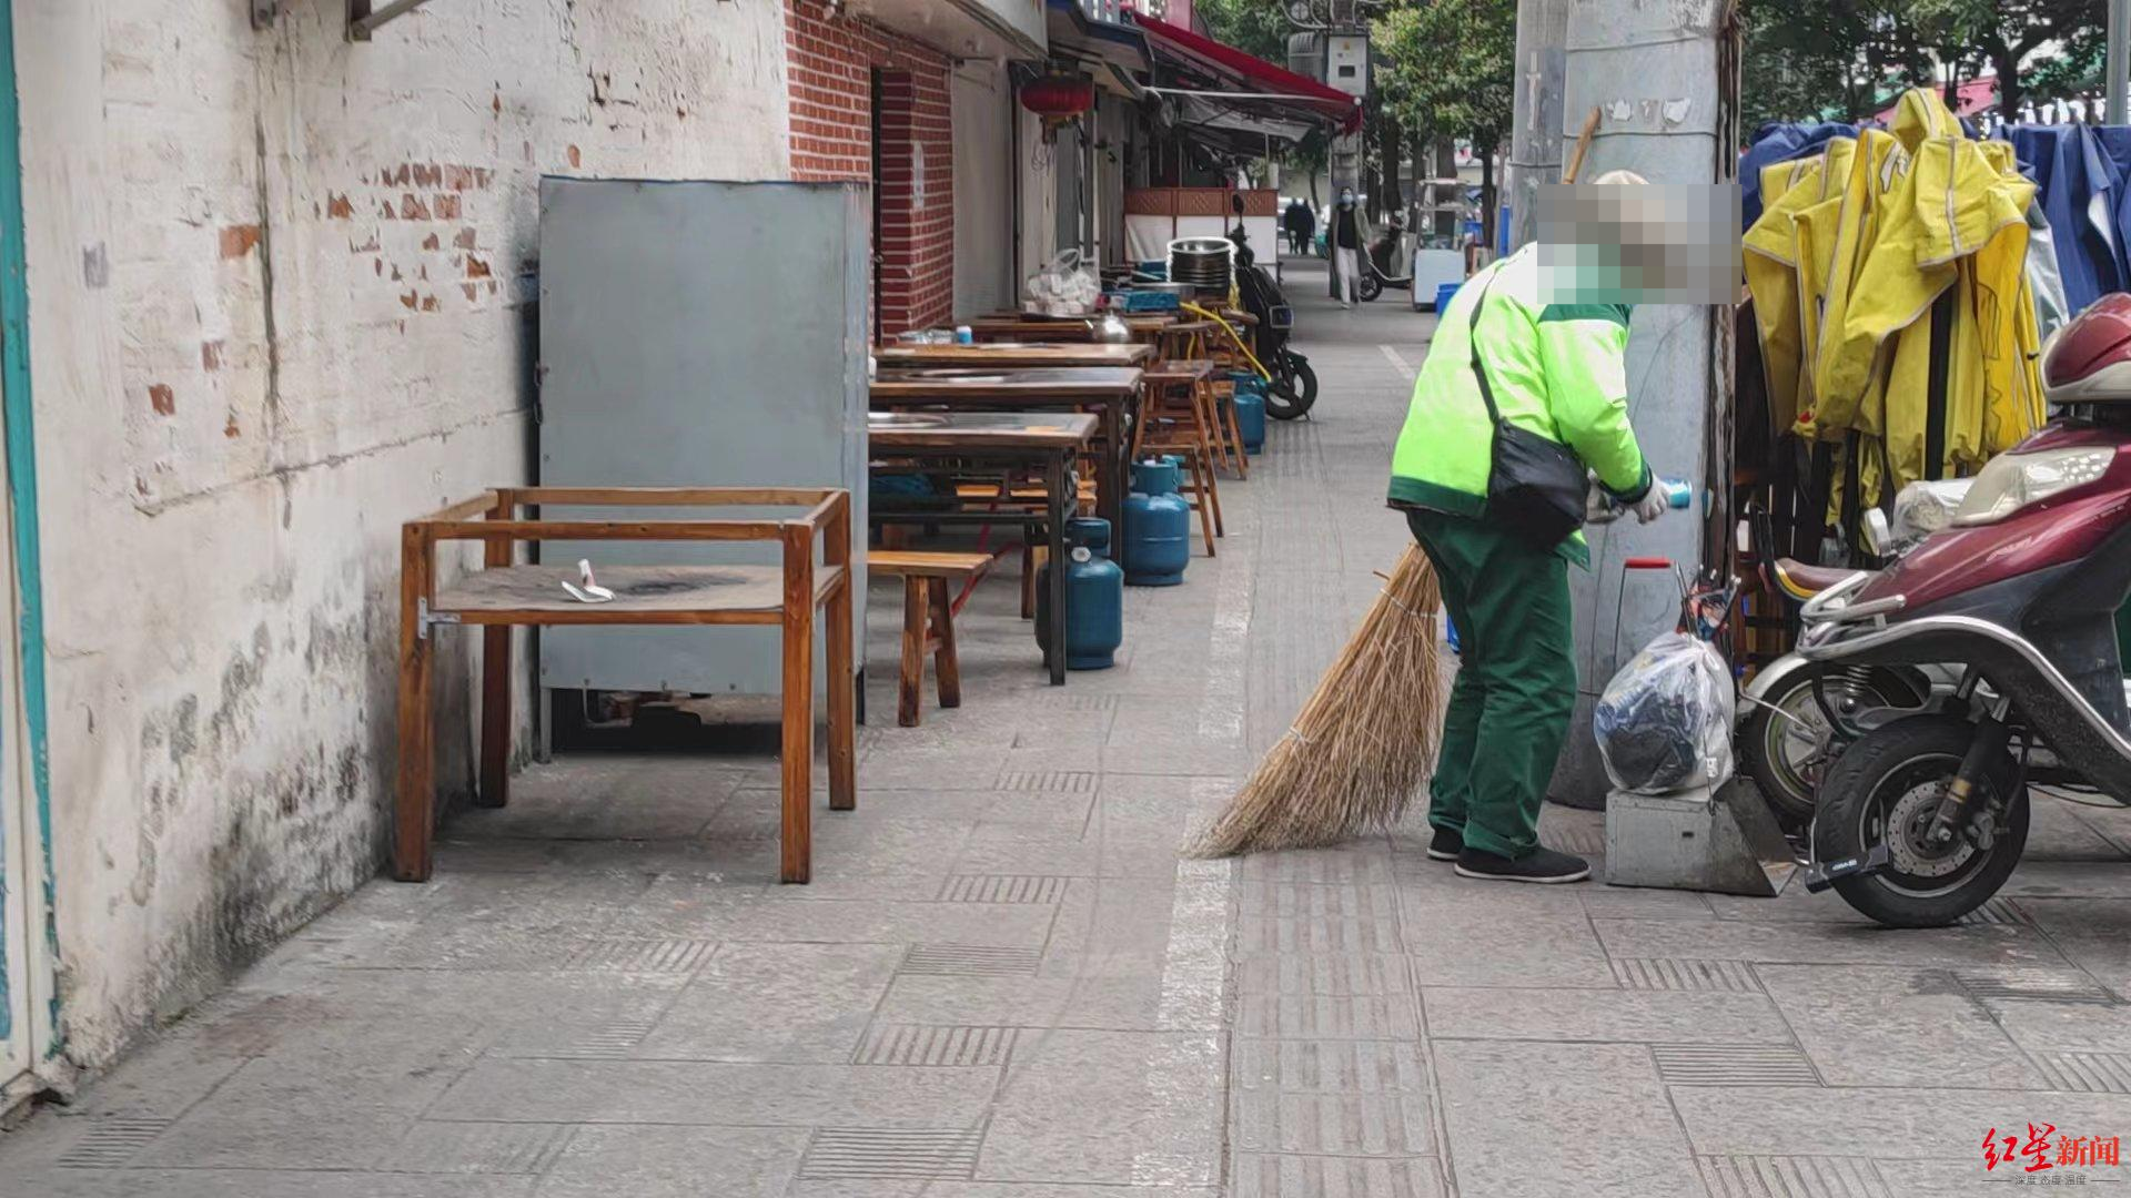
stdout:
<svg viewBox="0 0 2131 1198">
<path fill-rule="evenodd" d="M 1926 829 L 1975 725 L 1961 716 L 1905 716 L 1843 750 L 1820 787 L 1813 857 L 1843 861 L 1888 846 L 1886 868 L 1835 878 L 1835 893 L 1888 927 L 1943 927 L 1995 895 L 2027 848 L 2027 791 L 2003 804 L 1988 848 L 1961 829 L 1950 846 Z M 2005 776 L 1990 770 L 1992 778 Z M 1999 804 L 1986 780 L 1978 802 Z"/>
</svg>

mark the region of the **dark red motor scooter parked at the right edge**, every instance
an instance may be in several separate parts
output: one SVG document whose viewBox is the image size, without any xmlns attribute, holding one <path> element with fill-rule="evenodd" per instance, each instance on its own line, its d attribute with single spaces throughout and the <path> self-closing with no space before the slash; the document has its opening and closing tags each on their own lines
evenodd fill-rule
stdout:
<svg viewBox="0 0 2131 1198">
<path fill-rule="evenodd" d="M 2059 330 L 2041 373 L 2050 422 L 1975 475 L 1950 527 L 1801 612 L 1807 661 L 1961 669 L 1920 712 L 1867 712 L 1820 784 L 1807 887 L 1892 927 L 1952 923 L 2005 885 L 2031 782 L 2131 806 L 2131 296 Z"/>
</svg>

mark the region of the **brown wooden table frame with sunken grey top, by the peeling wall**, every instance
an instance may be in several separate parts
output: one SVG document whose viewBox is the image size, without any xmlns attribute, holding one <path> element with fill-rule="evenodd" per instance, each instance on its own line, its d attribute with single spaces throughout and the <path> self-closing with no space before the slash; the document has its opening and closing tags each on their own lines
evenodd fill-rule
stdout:
<svg viewBox="0 0 2131 1198">
<path fill-rule="evenodd" d="M 1087 418 L 1093 420 L 1093 418 Z M 788 520 L 520 518 L 550 507 L 806 507 Z M 437 546 L 484 541 L 484 569 L 437 586 Z M 782 565 L 595 567 L 612 603 L 580 603 L 573 567 L 518 565 L 518 541 L 778 541 Z M 814 546 L 820 544 L 820 565 Z M 1063 576 L 1063 571 L 1059 571 Z M 511 625 L 769 625 L 784 631 L 782 868 L 812 876 L 814 610 L 827 608 L 829 806 L 857 806 L 850 646 L 850 492 L 827 488 L 520 486 L 497 488 L 401 529 L 398 795 L 392 876 L 430 876 L 437 629 L 482 625 L 482 806 L 503 806 L 511 752 Z"/>
</svg>

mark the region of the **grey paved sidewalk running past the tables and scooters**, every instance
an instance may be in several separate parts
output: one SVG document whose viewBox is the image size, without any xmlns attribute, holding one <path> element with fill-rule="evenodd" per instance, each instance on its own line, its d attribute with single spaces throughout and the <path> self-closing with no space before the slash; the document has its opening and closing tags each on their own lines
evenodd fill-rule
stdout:
<svg viewBox="0 0 2131 1198">
<path fill-rule="evenodd" d="M 2131 814 L 2044 799 L 1967 927 L 1458 880 L 1411 829 L 1178 861 L 1404 548 L 1385 458 L 1432 318 L 1289 264 L 1276 424 L 1121 667 L 1044 684 L 1012 586 L 963 706 L 893 712 L 776 876 L 776 763 L 580 755 L 458 814 L 230 991 L 0 1136 L 0 1196 L 1946 1198 L 1982 1143 L 2131 1132 Z M 1643 431 L 1662 435 L 1662 431 Z M 929 699 L 929 695 L 927 695 Z M 1549 808 L 1562 848 L 1594 814 Z M 2099 895 L 2099 897 L 2076 897 Z M 2054 1149 L 2048 1160 L 2056 1160 Z M 2131 1192 L 2110 1166 L 2080 1194 Z"/>
</svg>

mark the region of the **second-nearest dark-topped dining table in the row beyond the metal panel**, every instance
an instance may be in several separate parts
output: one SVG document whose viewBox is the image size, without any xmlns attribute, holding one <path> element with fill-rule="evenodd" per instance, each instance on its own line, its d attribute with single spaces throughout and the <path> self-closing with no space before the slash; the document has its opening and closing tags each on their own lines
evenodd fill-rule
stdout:
<svg viewBox="0 0 2131 1198">
<path fill-rule="evenodd" d="M 1115 350 L 1149 350 L 1115 345 Z M 1100 416 L 1095 450 L 1095 512 L 1123 537 L 1125 426 L 1140 399 L 1136 367 L 1029 367 L 982 371 L 933 367 L 884 371 L 874 379 L 874 409 L 950 407 L 967 411 L 1057 411 L 1091 407 Z"/>
</svg>

